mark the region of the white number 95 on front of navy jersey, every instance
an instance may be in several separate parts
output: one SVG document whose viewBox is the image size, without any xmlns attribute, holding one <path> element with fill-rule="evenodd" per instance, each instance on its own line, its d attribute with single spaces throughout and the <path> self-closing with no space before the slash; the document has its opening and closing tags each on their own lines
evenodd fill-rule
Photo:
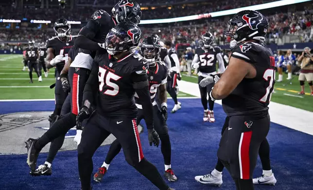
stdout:
<svg viewBox="0 0 313 190">
<path fill-rule="evenodd" d="M 107 74 L 106 74 L 106 69 L 102 68 L 102 67 L 99 67 L 99 73 L 98 73 L 98 76 L 99 76 L 99 90 L 102 92 L 103 90 L 103 87 L 104 87 L 104 84 L 110 88 L 112 88 L 112 90 L 105 90 L 104 91 L 104 94 L 105 95 L 111 95 L 111 96 L 115 96 L 119 93 L 119 90 L 120 90 L 120 87 L 111 82 L 110 80 L 118 80 L 118 79 L 121 79 L 122 77 L 120 76 L 117 76 L 115 75 L 114 73 L 108 71 Z M 105 75 L 106 74 L 106 75 Z M 105 82 L 104 82 L 105 80 Z"/>
</svg>

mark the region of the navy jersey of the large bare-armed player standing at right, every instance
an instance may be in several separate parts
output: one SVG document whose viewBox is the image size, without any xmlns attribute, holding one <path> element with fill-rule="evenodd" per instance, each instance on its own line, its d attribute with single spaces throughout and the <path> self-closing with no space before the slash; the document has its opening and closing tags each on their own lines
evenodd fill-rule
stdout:
<svg viewBox="0 0 313 190">
<path fill-rule="evenodd" d="M 234 47 L 231 57 L 251 63 L 257 71 L 253 79 L 243 80 L 222 100 L 223 109 L 232 115 L 267 115 L 275 84 L 275 58 L 271 50 L 260 43 L 248 42 Z"/>
</svg>

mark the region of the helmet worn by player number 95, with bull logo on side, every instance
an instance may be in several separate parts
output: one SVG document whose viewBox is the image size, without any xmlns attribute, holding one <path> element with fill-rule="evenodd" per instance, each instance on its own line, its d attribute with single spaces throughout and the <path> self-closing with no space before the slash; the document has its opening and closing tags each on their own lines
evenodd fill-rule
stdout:
<svg viewBox="0 0 313 190">
<path fill-rule="evenodd" d="M 139 27 L 132 22 L 120 22 L 106 35 L 104 48 L 111 55 L 137 47 L 141 38 Z"/>
</svg>

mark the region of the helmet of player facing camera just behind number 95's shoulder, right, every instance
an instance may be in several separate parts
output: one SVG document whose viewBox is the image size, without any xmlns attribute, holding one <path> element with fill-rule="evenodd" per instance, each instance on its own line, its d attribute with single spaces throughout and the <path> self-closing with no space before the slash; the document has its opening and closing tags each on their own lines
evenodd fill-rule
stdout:
<svg viewBox="0 0 313 190">
<path fill-rule="evenodd" d="M 156 61 L 160 55 L 160 51 L 160 43 L 155 37 L 150 36 L 142 40 L 141 53 L 149 63 Z"/>
</svg>

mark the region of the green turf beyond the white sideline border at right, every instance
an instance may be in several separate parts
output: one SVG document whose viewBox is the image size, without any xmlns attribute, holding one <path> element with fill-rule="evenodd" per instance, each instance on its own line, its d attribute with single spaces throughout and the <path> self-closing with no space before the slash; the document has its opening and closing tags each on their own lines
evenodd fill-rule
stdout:
<svg viewBox="0 0 313 190">
<path fill-rule="evenodd" d="M 198 82 L 198 76 L 192 75 L 188 77 L 186 74 L 182 74 L 182 80 L 189 82 Z M 278 73 L 276 73 L 276 79 L 278 79 Z M 271 101 L 280 104 L 285 104 L 300 108 L 307 111 L 313 111 L 313 96 L 311 96 L 310 88 L 308 83 L 305 83 L 305 93 L 306 95 L 298 95 L 301 91 L 298 76 L 291 81 L 292 84 L 287 83 L 287 74 L 284 75 L 283 82 L 275 83 L 275 93 L 272 95 Z M 284 84 L 286 84 L 284 86 Z"/>
</svg>

